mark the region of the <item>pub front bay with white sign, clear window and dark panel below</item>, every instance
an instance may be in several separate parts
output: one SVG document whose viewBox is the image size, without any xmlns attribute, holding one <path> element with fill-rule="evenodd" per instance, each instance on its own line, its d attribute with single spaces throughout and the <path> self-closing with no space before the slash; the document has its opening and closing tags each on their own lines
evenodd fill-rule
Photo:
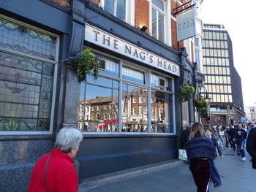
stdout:
<svg viewBox="0 0 256 192">
<path fill-rule="evenodd" d="M 176 158 L 180 66 L 89 23 L 84 47 L 99 56 L 100 69 L 97 80 L 87 75 L 76 82 L 79 101 L 72 109 L 85 137 L 80 179 Z"/>
</svg>

